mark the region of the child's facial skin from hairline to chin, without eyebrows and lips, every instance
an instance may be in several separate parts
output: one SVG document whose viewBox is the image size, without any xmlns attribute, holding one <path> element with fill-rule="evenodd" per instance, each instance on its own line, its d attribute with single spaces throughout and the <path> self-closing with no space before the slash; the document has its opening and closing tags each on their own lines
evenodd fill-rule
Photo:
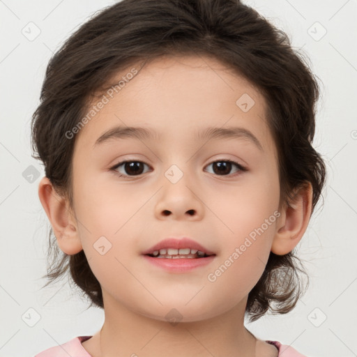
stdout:
<svg viewBox="0 0 357 357">
<path fill-rule="evenodd" d="M 245 93 L 255 101 L 251 108 L 242 105 Z M 278 231 L 277 153 L 265 112 L 263 96 L 218 61 L 170 57 L 146 66 L 80 130 L 73 155 L 78 237 L 106 309 L 126 307 L 163 321 L 172 308 L 182 321 L 244 310 Z M 150 128 L 159 138 L 96 144 L 117 126 Z M 195 137 L 209 127 L 249 130 L 261 148 L 247 136 Z M 124 160 L 143 164 L 110 170 Z M 225 160 L 247 171 L 222 166 Z M 93 248 L 102 236 L 112 244 L 104 255 Z M 214 252 L 213 260 L 176 273 L 142 255 L 164 238 L 182 236 Z M 220 267 L 223 273 L 215 273 Z"/>
</svg>

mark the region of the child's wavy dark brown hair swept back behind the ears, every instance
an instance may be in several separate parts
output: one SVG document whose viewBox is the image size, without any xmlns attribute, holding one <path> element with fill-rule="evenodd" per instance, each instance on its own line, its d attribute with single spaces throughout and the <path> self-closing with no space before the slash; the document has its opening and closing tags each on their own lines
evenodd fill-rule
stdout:
<svg viewBox="0 0 357 357">
<path fill-rule="evenodd" d="M 89 99 L 119 70 L 162 55 L 213 56 L 254 84 L 268 103 L 266 118 L 278 149 L 280 206 L 292 192 L 312 185 L 312 210 L 325 183 L 324 161 L 312 147 L 319 87 L 287 35 L 238 0 L 123 0 L 105 8 L 73 33 L 47 66 L 40 105 L 33 114 L 32 147 L 54 188 L 73 205 L 71 162 L 75 137 L 67 139 L 88 109 Z M 91 305 L 103 307 L 100 284 L 84 251 L 59 254 L 50 230 L 47 278 L 68 268 Z M 303 291 L 304 273 L 294 252 L 271 252 L 250 291 L 250 321 L 268 309 L 289 312 Z M 308 281 L 307 281 L 308 282 Z M 47 285 L 45 284 L 45 286 Z M 307 285 L 306 285 L 307 286 Z"/>
</svg>

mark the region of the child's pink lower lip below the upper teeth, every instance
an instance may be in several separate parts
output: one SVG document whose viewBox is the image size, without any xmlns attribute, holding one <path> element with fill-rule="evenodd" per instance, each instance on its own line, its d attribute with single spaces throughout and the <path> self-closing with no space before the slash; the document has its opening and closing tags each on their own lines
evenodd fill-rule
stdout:
<svg viewBox="0 0 357 357">
<path fill-rule="evenodd" d="M 149 255 L 144 255 L 144 258 L 151 264 L 165 269 L 166 271 L 171 271 L 175 273 L 184 273 L 185 271 L 191 271 L 199 266 L 206 266 L 210 264 L 215 258 L 215 255 L 210 255 L 204 258 L 153 258 Z"/>
</svg>

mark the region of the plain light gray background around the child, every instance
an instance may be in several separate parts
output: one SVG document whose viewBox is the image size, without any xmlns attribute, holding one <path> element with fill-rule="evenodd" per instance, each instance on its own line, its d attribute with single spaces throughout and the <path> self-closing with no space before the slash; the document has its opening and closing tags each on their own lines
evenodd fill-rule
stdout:
<svg viewBox="0 0 357 357">
<path fill-rule="evenodd" d="M 89 15 L 112 3 L 0 1 L 0 356 L 34 356 L 77 335 L 93 335 L 103 322 L 102 311 L 86 310 L 67 279 L 40 289 L 48 221 L 38 199 L 43 169 L 31 158 L 29 123 L 52 52 Z M 328 165 L 324 208 L 320 203 L 299 246 L 310 274 L 307 294 L 293 312 L 246 326 L 307 356 L 357 356 L 357 2 L 245 3 L 289 33 L 294 47 L 303 47 L 323 82 L 314 145 Z M 40 29 L 31 40 L 22 33 L 34 26 L 29 22 Z M 40 177 L 29 176 L 30 165 Z"/>
</svg>

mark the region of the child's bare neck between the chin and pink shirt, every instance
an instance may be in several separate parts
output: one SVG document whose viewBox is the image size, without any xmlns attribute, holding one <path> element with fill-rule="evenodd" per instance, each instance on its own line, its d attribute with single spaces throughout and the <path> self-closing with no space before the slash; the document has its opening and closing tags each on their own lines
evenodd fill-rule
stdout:
<svg viewBox="0 0 357 357">
<path fill-rule="evenodd" d="M 178 323 L 106 303 L 100 357 L 255 356 L 257 340 L 243 324 L 246 301 L 211 319 Z"/>
</svg>

